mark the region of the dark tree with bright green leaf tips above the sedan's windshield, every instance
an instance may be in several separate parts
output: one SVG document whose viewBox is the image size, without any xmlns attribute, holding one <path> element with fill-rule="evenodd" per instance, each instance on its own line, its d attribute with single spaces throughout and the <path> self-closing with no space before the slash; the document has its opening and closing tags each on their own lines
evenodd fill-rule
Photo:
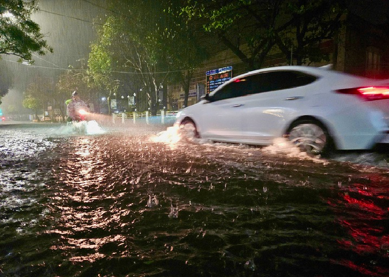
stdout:
<svg viewBox="0 0 389 277">
<path fill-rule="evenodd" d="M 186 0 L 182 11 L 192 24 L 201 24 L 214 51 L 230 49 L 249 70 L 258 69 L 275 45 L 282 0 Z M 216 48 L 216 45 L 224 48 Z"/>
</svg>

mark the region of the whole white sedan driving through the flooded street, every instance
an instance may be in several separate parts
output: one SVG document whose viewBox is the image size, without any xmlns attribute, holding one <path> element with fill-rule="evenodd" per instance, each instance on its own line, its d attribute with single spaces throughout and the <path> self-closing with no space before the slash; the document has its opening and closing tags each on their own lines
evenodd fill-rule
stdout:
<svg viewBox="0 0 389 277">
<path fill-rule="evenodd" d="M 365 150 L 388 143 L 389 81 L 327 68 L 282 66 L 236 76 L 177 114 L 176 126 L 215 142 L 303 151 Z"/>
</svg>

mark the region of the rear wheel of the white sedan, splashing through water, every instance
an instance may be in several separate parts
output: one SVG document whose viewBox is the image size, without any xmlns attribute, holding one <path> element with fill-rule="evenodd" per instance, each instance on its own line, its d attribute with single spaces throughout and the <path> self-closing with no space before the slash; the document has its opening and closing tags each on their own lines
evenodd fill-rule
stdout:
<svg viewBox="0 0 389 277">
<path fill-rule="evenodd" d="M 310 155 L 326 154 L 330 150 L 331 137 L 318 121 L 304 120 L 293 123 L 288 131 L 291 143 Z"/>
</svg>

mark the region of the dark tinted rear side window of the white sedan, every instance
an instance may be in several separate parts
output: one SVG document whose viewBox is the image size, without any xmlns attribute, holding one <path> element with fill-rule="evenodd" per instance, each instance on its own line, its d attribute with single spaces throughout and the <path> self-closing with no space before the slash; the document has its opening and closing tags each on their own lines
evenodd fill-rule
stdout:
<svg viewBox="0 0 389 277">
<path fill-rule="evenodd" d="M 249 94 L 299 87 L 314 82 L 317 77 L 299 71 L 271 71 L 249 76 L 252 89 Z"/>
</svg>

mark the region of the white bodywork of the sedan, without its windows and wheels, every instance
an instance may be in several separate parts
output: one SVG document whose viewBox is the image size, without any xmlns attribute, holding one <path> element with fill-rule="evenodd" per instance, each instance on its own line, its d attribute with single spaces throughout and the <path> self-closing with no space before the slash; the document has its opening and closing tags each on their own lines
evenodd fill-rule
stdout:
<svg viewBox="0 0 389 277">
<path fill-rule="evenodd" d="M 297 87 L 247 95 L 242 91 L 239 97 L 214 102 L 203 100 L 182 110 L 176 124 L 189 118 L 196 124 L 200 135 L 211 141 L 253 145 L 272 144 L 274 138 L 286 134 L 291 124 L 301 118 L 320 121 L 338 149 L 370 149 L 387 138 L 389 99 L 365 101 L 361 96 L 338 92 L 345 88 L 384 85 L 387 80 L 372 80 L 313 67 L 274 67 L 236 76 L 209 97 L 212 100 L 223 89 L 233 87 L 233 82 L 255 74 L 288 70 L 309 74 L 316 79 Z"/>
</svg>

